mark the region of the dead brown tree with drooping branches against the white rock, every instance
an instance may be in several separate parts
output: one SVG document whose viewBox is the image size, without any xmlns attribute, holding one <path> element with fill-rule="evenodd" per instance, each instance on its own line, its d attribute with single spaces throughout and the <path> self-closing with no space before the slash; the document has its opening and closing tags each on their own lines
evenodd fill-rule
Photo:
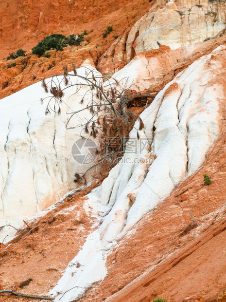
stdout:
<svg viewBox="0 0 226 302">
<path fill-rule="evenodd" d="M 42 103 L 48 101 L 46 114 L 51 112 L 61 113 L 60 104 L 62 103 L 65 90 L 68 88 L 74 87 L 76 90 L 74 94 L 78 94 L 82 88 L 87 87 L 86 93 L 81 99 L 78 99 L 80 104 L 84 104 L 87 96 L 89 96 L 90 99 L 86 101 L 87 105 L 78 111 L 69 113 L 70 118 L 66 128 L 71 128 L 69 124 L 75 115 L 85 110 L 89 111 L 91 117 L 80 126 L 82 127 L 81 137 L 83 138 L 82 133 L 89 134 L 94 139 L 98 137 L 99 144 L 97 148 L 98 162 L 88 170 L 102 164 L 106 158 L 109 164 L 112 164 L 113 161 L 116 163 L 117 158 L 122 157 L 129 138 L 129 132 L 134 127 L 137 119 L 139 120 L 139 127 L 137 129 L 138 139 L 139 131 L 144 128 L 141 118 L 128 110 L 127 105 L 135 99 L 140 100 L 143 98 L 143 100 L 146 100 L 148 97 L 153 98 L 155 94 L 136 93 L 136 95 L 133 95 L 130 93 L 130 91 L 134 92 L 131 90 L 131 87 L 136 85 L 132 84 L 130 87 L 126 87 L 128 79 L 124 79 L 125 84 L 122 85 L 122 80 L 118 81 L 114 78 L 109 80 L 100 74 L 95 75 L 95 70 L 87 67 L 84 76 L 77 73 L 73 63 L 71 65 L 73 73 L 69 74 L 67 65 L 63 64 L 64 74 L 52 76 L 48 82 L 46 82 L 45 78 L 43 79 L 42 86 L 45 92 L 51 94 L 41 99 Z M 62 79 L 60 80 L 61 77 Z M 77 81 L 72 83 L 70 81 L 71 77 L 77 77 Z M 62 88 L 63 82 L 64 88 Z M 113 155 L 114 157 L 112 157 Z M 112 162 L 109 159 L 112 159 Z M 85 174 L 79 175 L 75 173 L 76 180 L 84 180 Z"/>
</svg>

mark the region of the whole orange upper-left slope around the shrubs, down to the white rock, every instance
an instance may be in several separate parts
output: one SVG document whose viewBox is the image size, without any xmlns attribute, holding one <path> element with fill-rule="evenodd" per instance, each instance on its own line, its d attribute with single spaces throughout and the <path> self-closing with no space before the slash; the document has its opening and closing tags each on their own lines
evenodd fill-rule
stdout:
<svg viewBox="0 0 226 302">
<path fill-rule="evenodd" d="M 0 58 L 22 48 L 31 50 L 38 41 L 52 33 L 88 35 L 81 46 L 67 47 L 62 52 L 51 51 L 51 57 L 40 57 L 27 52 L 16 60 L 0 60 L 0 98 L 17 92 L 45 76 L 62 72 L 62 63 L 73 61 L 79 67 L 85 59 L 94 65 L 115 41 L 153 5 L 148 0 L 47 0 L 0 1 Z M 113 32 L 103 38 L 106 27 Z M 15 67 L 8 68 L 12 62 Z M 123 66 L 122 66 L 123 67 Z"/>
</svg>

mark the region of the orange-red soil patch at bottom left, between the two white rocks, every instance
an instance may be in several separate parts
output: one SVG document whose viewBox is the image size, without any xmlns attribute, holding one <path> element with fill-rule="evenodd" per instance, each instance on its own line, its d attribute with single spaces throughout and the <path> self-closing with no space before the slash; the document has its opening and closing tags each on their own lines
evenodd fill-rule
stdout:
<svg viewBox="0 0 226 302">
<path fill-rule="evenodd" d="M 33 233 L 23 230 L 7 248 L 0 248 L 0 289 L 10 289 L 23 294 L 48 296 L 63 271 L 79 252 L 87 235 L 93 231 L 93 217 L 83 208 L 84 197 L 98 183 L 68 196 L 63 203 L 36 219 L 30 227 L 38 226 Z M 10 243 L 9 243 L 10 244 Z M 76 269 L 76 268 L 75 268 Z M 19 285 L 32 281 L 20 288 Z M 8 294 L 0 295 L 3 301 L 39 301 Z"/>
</svg>

